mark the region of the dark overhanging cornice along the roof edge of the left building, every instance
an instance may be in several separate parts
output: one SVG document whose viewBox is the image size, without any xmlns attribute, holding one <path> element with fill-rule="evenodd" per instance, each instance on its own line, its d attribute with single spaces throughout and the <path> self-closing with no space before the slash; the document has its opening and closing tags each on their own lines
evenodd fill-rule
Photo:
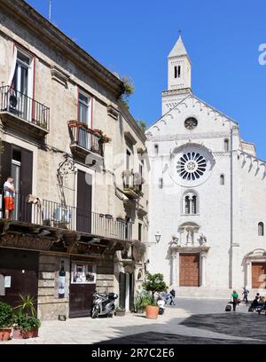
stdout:
<svg viewBox="0 0 266 362">
<path fill-rule="evenodd" d="M 43 43 L 48 43 L 73 61 L 78 67 L 90 73 L 98 82 L 105 84 L 118 98 L 123 92 L 123 83 L 106 67 L 103 67 L 90 54 L 74 43 L 59 28 L 46 20 L 39 12 L 23 0 L 0 0 L 1 12 L 8 13 L 17 23 L 27 28 L 34 35 L 43 38 Z"/>
</svg>

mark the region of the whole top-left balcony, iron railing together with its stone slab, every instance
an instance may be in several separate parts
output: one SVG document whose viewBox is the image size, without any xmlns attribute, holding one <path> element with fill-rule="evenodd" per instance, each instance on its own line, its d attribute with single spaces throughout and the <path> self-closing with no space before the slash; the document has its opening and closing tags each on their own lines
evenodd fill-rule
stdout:
<svg viewBox="0 0 266 362">
<path fill-rule="evenodd" d="M 50 108 L 10 86 L 0 87 L 0 115 L 5 128 L 20 134 L 42 139 L 49 133 Z"/>
</svg>

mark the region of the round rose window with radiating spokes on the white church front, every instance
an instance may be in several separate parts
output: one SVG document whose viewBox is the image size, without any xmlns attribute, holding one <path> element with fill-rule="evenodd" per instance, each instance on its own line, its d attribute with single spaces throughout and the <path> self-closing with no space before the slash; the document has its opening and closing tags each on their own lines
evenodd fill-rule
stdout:
<svg viewBox="0 0 266 362">
<path fill-rule="evenodd" d="M 184 180 L 199 179 L 207 169 L 206 159 L 197 152 L 184 153 L 177 161 L 177 173 Z"/>
</svg>

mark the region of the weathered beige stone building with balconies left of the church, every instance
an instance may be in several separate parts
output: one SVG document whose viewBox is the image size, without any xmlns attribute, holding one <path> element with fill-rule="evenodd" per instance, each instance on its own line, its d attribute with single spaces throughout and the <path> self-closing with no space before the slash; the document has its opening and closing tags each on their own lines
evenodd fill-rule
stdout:
<svg viewBox="0 0 266 362">
<path fill-rule="evenodd" d="M 21 0 L 0 1 L 0 83 L 1 188 L 11 175 L 17 191 L 12 220 L 2 200 L 0 273 L 20 280 L 0 299 L 16 303 L 20 289 L 42 319 L 74 317 L 97 289 L 129 311 L 144 279 L 132 250 L 147 238 L 149 166 L 123 83 Z"/>
</svg>

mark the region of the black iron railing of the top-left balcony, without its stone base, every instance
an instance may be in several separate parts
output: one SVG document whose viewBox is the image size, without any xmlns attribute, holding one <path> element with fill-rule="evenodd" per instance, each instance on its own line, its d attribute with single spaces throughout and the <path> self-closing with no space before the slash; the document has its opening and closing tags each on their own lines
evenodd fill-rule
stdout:
<svg viewBox="0 0 266 362">
<path fill-rule="evenodd" d="M 12 114 L 43 130 L 49 130 L 50 108 L 8 85 L 0 87 L 0 112 Z"/>
</svg>

